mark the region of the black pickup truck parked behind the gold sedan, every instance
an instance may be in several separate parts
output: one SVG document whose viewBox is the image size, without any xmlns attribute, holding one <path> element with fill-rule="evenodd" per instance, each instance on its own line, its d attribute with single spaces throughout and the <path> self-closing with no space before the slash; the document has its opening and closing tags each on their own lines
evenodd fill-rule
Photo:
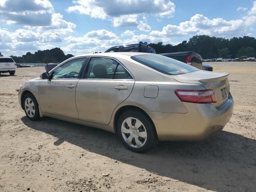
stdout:
<svg viewBox="0 0 256 192">
<path fill-rule="evenodd" d="M 114 46 L 106 50 L 105 52 L 143 52 L 143 53 L 156 53 L 150 46 L 144 44 L 130 44 Z M 160 55 L 170 57 L 172 59 L 184 62 L 186 64 L 192 65 L 198 69 L 212 71 L 212 67 L 209 65 L 202 65 L 202 57 L 192 51 L 187 52 L 176 52 L 176 53 L 162 53 Z"/>
</svg>

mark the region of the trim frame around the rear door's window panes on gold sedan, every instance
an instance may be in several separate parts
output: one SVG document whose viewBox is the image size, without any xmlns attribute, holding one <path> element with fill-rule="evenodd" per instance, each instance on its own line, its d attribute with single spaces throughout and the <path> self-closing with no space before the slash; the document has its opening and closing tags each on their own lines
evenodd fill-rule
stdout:
<svg viewBox="0 0 256 192">
<path fill-rule="evenodd" d="M 115 60 L 118 64 L 120 64 L 122 67 L 124 67 L 124 69 L 130 74 L 130 76 L 132 77 L 132 79 L 114 79 L 114 77 L 115 77 L 115 74 L 116 74 L 116 69 L 117 69 L 117 66 L 118 66 L 118 64 L 116 65 L 116 69 L 115 69 L 115 72 L 114 72 L 114 75 L 113 75 L 113 78 L 112 79 L 102 79 L 102 78 L 86 78 L 86 72 L 87 72 L 87 70 L 88 70 L 88 66 L 89 66 L 89 63 L 90 63 L 90 60 L 92 59 L 92 58 L 108 58 L 108 59 L 113 59 L 113 60 Z M 82 72 L 82 76 L 80 77 L 80 79 L 86 79 L 86 80 L 90 80 L 90 79 L 92 79 L 92 80 L 135 80 L 134 79 L 134 76 L 131 74 L 131 72 L 120 62 L 120 61 L 118 61 L 116 58 L 113 58 L 113 57 L 108 57 L 108 56 L 89 56 L 89 58 L 88 58 L 88 60 L 87 60 L 87 62 L 86 62 L 86 66 L 85 66 L 85 68 L 84 68 L 84 70 L 83 70 L 83 72 Z"/>
</svg>

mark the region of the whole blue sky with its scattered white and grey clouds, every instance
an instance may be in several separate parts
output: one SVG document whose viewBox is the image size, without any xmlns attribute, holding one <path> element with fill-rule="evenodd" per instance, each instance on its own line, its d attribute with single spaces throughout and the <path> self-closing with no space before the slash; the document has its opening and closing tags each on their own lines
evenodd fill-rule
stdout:
<svg viewBox="0 0 256 192">
<path fill-rule="evenodd" d="M 0 0 L 0 52 L 104 51 L 140 41 L 177 44 L 194 35 L 256 36 L 253 0 Z"/>
</svg>

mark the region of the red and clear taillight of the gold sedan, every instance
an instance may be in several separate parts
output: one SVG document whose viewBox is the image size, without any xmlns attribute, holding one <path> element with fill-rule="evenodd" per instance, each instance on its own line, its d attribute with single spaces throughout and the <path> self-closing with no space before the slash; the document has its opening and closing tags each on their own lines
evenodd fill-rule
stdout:
<svg viewBox="0 0 256 192">
<path fill-rule="evenodd" d="M 206 90 L 175 90 L 175 94 L 183 102 L 190 103 L 216 103 L 216 97 L 212 89 Z"/>
</svg>

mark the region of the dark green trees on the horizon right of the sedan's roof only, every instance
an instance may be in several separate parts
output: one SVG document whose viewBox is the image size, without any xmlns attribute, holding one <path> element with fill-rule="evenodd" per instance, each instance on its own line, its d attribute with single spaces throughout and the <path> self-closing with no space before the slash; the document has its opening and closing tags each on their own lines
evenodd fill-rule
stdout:
<svg viewBox="0 0 256 192">
<path fill-rule="evenodd" d="M 140 42 L 142 43 L 142 42 Z M 144 42 L 143 44 L 148 44 Z M 162 42 L 148 44 L 156 53 L 171 53 L 194 51 L 202 58 L 238 58 L 241 56 L 256 56 L 256 39 L 254 37 L 233 37 L 230 39 L 197 35 L 175 46 Z"/>
</svg>

